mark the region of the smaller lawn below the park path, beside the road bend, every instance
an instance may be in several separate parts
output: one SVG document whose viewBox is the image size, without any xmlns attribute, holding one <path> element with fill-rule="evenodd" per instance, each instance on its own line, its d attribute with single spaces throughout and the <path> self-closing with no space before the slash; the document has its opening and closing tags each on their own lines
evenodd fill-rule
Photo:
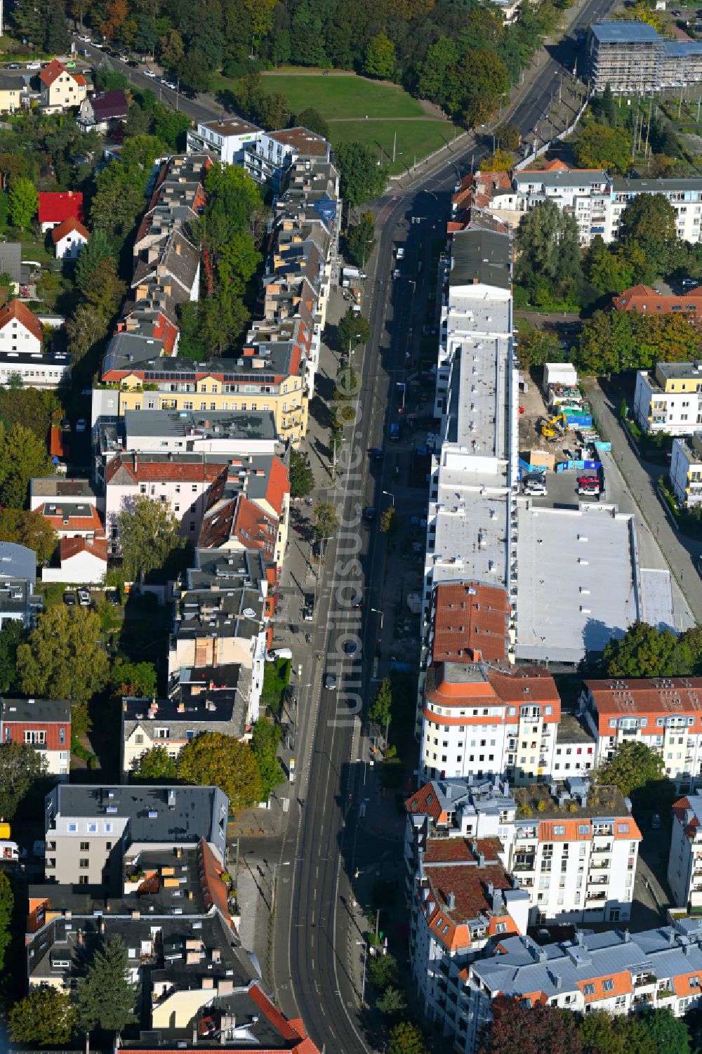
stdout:
<svg viewBox="0 0 702 1054">
<path fill-rule="evenodd" d="M 427 154 L 438 150 L 453 138 L 453 125 L 449 121 L 332 121 L 330 135 L 332 147 L 345 140 L 354 139 L 366 143 L 377 152 L 383 151 L 383 161 L 389 165 L 390 174 L 398 176 L 407 168 L 412 168 L 414 158 L 420 161 Z M 456 134 L 462 130 L 457 129 Z M 397 134 L 395 163 L 391 163 L 392 143 Z"/>
</svg>

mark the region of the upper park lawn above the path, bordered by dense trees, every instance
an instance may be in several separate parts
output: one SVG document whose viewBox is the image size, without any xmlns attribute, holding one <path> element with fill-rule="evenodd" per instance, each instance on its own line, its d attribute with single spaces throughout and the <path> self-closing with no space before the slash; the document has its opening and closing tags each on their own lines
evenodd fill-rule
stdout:
<svg viewBox="0 0 702 1054">
<path fill-rule="evenodd" d="M 264 91 L 282 92 L 294 113 L 314 106 L 327 120 L 338 117 L 422 117 L 416 99 L 395 84 L 381 84 L 355 74 L 289 76 L 266 74 Z"/>
</svg>

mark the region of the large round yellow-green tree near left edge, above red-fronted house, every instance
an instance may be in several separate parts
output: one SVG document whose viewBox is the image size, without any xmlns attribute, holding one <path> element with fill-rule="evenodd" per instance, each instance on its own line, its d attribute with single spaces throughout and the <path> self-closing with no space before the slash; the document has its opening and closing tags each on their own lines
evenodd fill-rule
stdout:
<svg viewBox="0 0 702 1054">
<path fill-rule="evenodd" d="M 56 605 L 17 648 L 20 685 L 26 696 L 86 703 L 108 683 L 110 663 L 99 642 L 95 611 Z"/>
</svg>

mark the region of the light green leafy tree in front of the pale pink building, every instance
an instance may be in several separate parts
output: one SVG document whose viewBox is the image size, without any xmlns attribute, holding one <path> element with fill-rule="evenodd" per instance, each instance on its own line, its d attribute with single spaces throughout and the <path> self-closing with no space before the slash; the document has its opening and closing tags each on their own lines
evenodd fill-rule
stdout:
<svg viewBox="0 0 702 1054">
<path fill-rule="evenodd" d="M 124 573 L 132 581 L 162 568 L 169 557 L 186 544 L 171 508 L 145 494 L 139 494 L 117 514 L 116 526 Z"/>
</svg>

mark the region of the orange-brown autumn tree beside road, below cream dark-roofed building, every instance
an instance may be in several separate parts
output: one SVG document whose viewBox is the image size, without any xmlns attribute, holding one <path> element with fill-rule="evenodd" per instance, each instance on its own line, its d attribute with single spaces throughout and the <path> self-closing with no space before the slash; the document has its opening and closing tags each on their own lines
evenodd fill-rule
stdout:
<svg viewBox="0 0 702 1054">
<path fill-rule="evenodd" d="M 264 799 L 264 783 L 253 750 L 233 736 L 206 731 L 191 739 L 178 757 L 178 776 L 186 783 L 218 786 L 232 813 Z"/>
</svg>

